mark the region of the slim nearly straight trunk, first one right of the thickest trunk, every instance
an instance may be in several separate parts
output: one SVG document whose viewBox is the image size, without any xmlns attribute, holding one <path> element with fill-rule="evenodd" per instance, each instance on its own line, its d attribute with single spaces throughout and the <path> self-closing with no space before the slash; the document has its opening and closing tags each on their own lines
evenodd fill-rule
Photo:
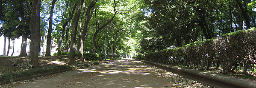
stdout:
<svg viewBox="0 0 256 88">
<path fill-rule="evenodd" d="M 52 42 L 52 28 L 53 28 L 53 9 L 55 2 L 57 0 L 53 0 L 51 11 L 50 11 L 50 17 L 49 17 L 49 29 L 48 29 L 48 35 L 47 35 L 47 45 L 46 45 L 46 54 L 45 56 L 51 56 L 51 42 Z"/>
</svg>

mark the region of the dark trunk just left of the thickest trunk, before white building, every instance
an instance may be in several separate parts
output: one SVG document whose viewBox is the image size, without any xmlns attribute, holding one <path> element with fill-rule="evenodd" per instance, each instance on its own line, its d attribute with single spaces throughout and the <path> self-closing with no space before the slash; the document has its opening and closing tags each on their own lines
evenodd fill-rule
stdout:
<svg viewBox="0 0 256 88">
<path fill-rule="evenodd" d="M 21 11 L 21 22 L 22 24 L 26 24 L 25 17 L 24 17 L 24 11 Z M 26 40 L 27 40 L 28 34 L 26 33 L 26 29 L 23 28 L 22 30 L 22 43 L 21 43 L 21 54 L 20 57 L 26 57 Z"/>
</svg>

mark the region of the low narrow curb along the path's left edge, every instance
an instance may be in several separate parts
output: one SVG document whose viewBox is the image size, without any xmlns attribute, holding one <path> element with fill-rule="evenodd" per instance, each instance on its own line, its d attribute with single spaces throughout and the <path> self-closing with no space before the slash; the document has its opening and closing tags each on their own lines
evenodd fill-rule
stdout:
<svg viewBox="0 0 256 88">
<path fill-rule="evenodd" d="M 99 65 L 101 63 L 107 63 L 109 61 L 106 62 L 96 62 L 93 63 L 92 65 Z M 8 84 L 10 82 L 18 82 L 18 81 L 22 81 L 22 80 L 27 80 L 27 79 L 33 79 L 33 78 L 37 78 L 37 77 L 42 77 L 42 76 L 46 76 L 46 75 L 52 75 L 52 74 L 57 74 L 57 73 L 62 73 L 62 72 L 66 72 L 66 71 L 72 71 L 74 69 L 82 69 L 82 68 L 87 68 L 87 67 L 91 67 L 92 65 L 86 65 L 86 66 L 80 66 L 78 68 L 71 68 L 71 69 L 65 69 L 65 70 L 61 70 L 61 71 L 55 71 L 55 72 L 48 72 L 48 73 L 44 73 L 44 74 L 35 74 L 29 77 L 21 77 L 21 78 L 16 78 L 16 79 L 10 79 L 10 80 L 5 80 L 5 81 L 0 81 L 0 85 L 3 84 Z"/>
</svg>

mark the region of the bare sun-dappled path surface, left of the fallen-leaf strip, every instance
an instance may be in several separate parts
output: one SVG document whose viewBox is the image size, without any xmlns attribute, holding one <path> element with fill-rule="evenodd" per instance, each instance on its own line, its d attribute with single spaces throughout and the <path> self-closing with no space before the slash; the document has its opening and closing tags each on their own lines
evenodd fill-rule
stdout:
<svg viewBox="0 0 256 88">
<path fill-rule="evenodd" d="M 59 74 L 15 88 L 174 88 L 152 75 L 147 65 L 135 60 L 118 60 L 91 68 Z"/>
</svg>

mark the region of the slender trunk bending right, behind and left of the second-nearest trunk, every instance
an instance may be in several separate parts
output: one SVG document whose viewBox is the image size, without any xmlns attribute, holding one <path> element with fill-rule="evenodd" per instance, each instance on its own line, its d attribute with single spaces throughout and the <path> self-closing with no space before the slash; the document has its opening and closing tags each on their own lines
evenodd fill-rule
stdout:
<svg viewBox="0 0 256 88">
<path fill-rule="evenodd" d="M 70 20 L 73 18 L 76 7 L 77 7 L 77 4 L 74 6 L 72 11 L 70 10 L 70 16 L 69 16 L 68 20 L 62 26 L 63 27 L 62 28 L 62 36 L 59 39 L 59 45 L 58 45 L 59 48 L 58 48 L 57 56 L 61 56 L 61 46 L 62 46 L 62 40 L 64 38 L 64 34 L 65 34 L 65 28 L 68 25 L 68 23 L 70 22 Z M 68 34 L 68 30 L 66 32 L 67 32 L 66 34 Z"/>
</svg>

